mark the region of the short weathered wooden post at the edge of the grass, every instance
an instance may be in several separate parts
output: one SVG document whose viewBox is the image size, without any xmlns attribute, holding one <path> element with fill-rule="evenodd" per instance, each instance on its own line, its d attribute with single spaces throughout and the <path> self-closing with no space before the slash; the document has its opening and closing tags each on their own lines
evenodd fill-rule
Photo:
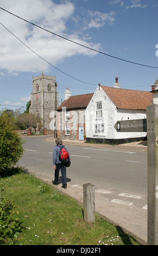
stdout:
<svg viewBox="0 0 158 256">
<path fill-rule="evenodd" d="M 94 185 L 88 183 L 83 185 L 84 199 L 84 221 L 95 222 L 95 192 Z"/>
</svg>

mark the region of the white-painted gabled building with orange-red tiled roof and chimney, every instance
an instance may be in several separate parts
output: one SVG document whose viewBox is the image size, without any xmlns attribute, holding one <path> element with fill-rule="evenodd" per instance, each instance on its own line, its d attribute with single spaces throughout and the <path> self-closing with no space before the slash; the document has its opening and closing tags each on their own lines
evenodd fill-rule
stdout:
<svg viewBox="0 0 158 256">
<path fill-rule="evenodd" d="M 98 85 L 85 111 L 87 141 L 121 144 L 146 139 L 147 132 L 118 132 L 117 121 L 146 119 L 146 107 L 153 103 L 153 94 L 121 89 L 118 78 L 114 87 Z"/>
</svg>

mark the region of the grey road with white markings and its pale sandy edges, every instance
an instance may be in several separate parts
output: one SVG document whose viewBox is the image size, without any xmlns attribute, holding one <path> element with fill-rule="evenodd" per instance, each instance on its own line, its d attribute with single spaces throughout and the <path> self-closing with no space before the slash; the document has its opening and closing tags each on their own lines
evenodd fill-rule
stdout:
<svg viewBox="0 0 158 256">
<path fill-rule="evenodd" d="M 18 164 L 52 184 L 54 138 L 30 136 L 24 139 L 26 150 Z M 71 154 L 72 164 L 67 168 L 67 190 L 61 188 L 61 177 L 56 188 L 83 203 L 83 184 L 92 183 L 96 211 L 147 244 L 147 147 L 68 140 L 64 144 Z"/>
</svg>

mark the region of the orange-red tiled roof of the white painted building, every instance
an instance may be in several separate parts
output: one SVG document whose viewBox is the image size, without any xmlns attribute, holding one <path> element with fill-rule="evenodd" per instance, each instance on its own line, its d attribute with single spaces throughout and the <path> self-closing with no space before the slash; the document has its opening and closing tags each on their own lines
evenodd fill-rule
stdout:
<svg viewBox="0 0 158 256">
<path fill-rule="evenodd" d="M 146 109 L 153 104 L 153 94 L 141 90 L 129 90 L 100 86 L 117 108 Z"/>
</svg>

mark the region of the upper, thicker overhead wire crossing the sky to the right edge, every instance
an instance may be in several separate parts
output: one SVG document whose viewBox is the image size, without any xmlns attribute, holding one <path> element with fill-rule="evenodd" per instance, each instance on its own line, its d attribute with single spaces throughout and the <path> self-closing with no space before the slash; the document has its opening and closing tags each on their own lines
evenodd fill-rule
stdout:
<svg viewBox="0 0 158 256">
<path fill-rule="evenodd" d="M 74 44 L 80 45 L 80 46 L 85 47 L 85 48 L 87 48 L 87 49 L 89 49 L 89 50 L 92 50 L 92 51 L 94 51 L 94 52 L 98 52 L 98 53 L 104 54 L 104 55 L 106 55 L 106 56 L 109 56 L 109 57 L 111 57 L 111 58 L 115 58 L 115 59 L 118 59 L 118 60 L 122 60 L 123 62 L 128 62 L 128 63 L 132 63 L 132 64 L 135 64 L 135 65 L 140 65 L 140 66 L 146 66 L 146 67 L 148 67 L 148 68 L 158 69 L 157 66 L 150 66 L 150 65 L 144 65 L 144 64 L 140 64 L 140 63 L 136 63 L 136 62 L 131 62 L 130 60 L 118 58 L 118 57 L 116 57 L 116 56 L 112 56 L 112 55 L 110 55 L 110 54 L 107 54 L 107 53 L 104 53 L 104 52 L 100 52 L 100 51 L 95 50 L 95 49 L 93 49 L 93 48 L 91 48 L 91 47 L 88 47 L 88 46 L 79 44 L 78 42 L 75 42 L 75 41 L 73 41 L 73 40 L 70 40 L 70 39 L 68 39 L 68 38 L 65 38 L 64 36 L 61 36 L 61 35 L 58 35 L 58 34 L 55 34 L 55 33 L 51 32 L 51 31 L 48 31 L 48 29 L 42 28 L 42 27 L 40 27 L 40 26 L 38 26 L 38 25 L 36 25 L 36 24 L 30 22 L 30 21 L 27 21 L 27 20 L 23 19 L 23 18 L 20 17 L 20 16 L 17 16 L 17 15 L 15 15 L 15 14 L 13 14 L 13 13 L 10 13 L 10 11 L 7 11 L 7 10 L 3 9 L 2 7 L 0 7 L 0 9 L 2 9 L 3 11 L 6 11 L 7 13 L 9 13 L 9 14 L 15 16 L 15 17 L 17 17 L 18 19 L 21 19 L 21 20 L 23 20 L 23 21 L 28 22 L 29 24 L 31 24 L 31 25 L 33 25 L 33 26 L 36 26 L 36 27 L 38 27 L 38 28 L 40 28 L 40 29 L 43 29 L 44 31 L 47 31 L 47 32 L 49 32 L 49 33 L 51 33 L 51 34 L 53 34 L 53 35 L 59 36 L 59 37 L 62 38 L 62 39 L 65 39 L 65 40 L 67 40 L 67 41 L 69 41 L 69 42 L 73 42 Z"/>
</svg>

